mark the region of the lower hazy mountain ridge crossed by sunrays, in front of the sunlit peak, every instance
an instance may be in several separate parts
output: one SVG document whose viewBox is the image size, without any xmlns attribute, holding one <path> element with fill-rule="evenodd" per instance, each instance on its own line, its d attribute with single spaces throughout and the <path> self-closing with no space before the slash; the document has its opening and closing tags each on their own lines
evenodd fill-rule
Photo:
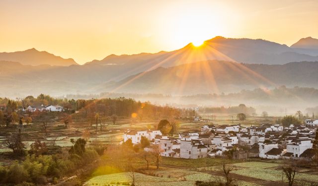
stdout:
<svg viewBox="0 0 318 186">
<path fill-rule="evenodd" d="M 195 62 L 159 67 L 95 88 L 97 92 L 192 95 L 279 85 L 317 87 L 317 69 L 318 62 L 292 62 L 284 65 Z"/>
</svg>

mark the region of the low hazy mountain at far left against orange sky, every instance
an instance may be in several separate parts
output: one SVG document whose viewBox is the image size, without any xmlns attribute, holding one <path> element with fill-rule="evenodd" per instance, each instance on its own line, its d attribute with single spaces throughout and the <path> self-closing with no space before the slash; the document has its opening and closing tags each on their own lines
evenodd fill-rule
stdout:
<svg viewBox="0 0 318 186">
<path fill-rule="evenodd" d="M 57 66 L 70 66 L 76 63 L 73 59 L 63 59 L 45 51 L 37 51 L 36 49 L 29 49 L 26 51 L 0 53 L 1 61 L 20 62 L 21 64 L 29 65 L 57 65 Z"/>
</svg>

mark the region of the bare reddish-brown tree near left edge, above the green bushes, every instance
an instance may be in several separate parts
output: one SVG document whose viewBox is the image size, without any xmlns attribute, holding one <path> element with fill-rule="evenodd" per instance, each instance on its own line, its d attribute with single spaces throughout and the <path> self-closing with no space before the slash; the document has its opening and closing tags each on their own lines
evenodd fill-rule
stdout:
<svg viewBox="0 0 318 186">
<path fill-rule="evenodd" d="M 11 149 L 14 154 L 22 155 L 23 149 L 25 148 L 24 143 L 22 142 L 21 131 L 19 129 L 18 133 L 12 134 L 10 138 L 8 138 L 4 145 Z"/>
</svg>

